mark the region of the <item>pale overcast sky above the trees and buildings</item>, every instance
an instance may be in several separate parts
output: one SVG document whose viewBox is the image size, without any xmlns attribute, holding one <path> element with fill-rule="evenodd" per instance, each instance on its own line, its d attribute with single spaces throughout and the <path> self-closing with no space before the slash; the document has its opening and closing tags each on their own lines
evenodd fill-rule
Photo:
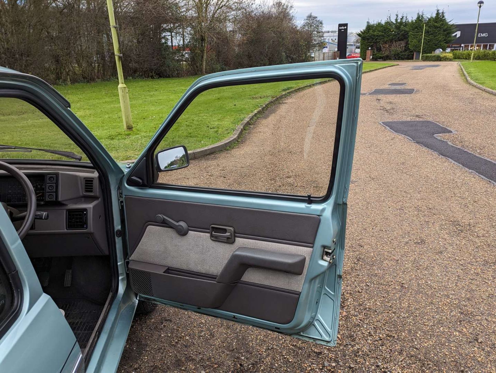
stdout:
<svg viewBox="0 0 496 373">
<path fill-rule="evenodd" d="M 297 18 L 302 20 L 312 12 L 324 22 L 324 29 L 336 29 L 338 23 L 348 23 L 348 28 L 358 31 L 367 20 L 383 20 L 389 13 L 405 13 L 414 17 L 417 11 L 435 12 L 436 6 L 446 11 L 454 23 L 475 23 L 478 0 L 294 0 Z M 496 22 L 496 0 L 485 0 L 480 22 Z"/>
</svg>

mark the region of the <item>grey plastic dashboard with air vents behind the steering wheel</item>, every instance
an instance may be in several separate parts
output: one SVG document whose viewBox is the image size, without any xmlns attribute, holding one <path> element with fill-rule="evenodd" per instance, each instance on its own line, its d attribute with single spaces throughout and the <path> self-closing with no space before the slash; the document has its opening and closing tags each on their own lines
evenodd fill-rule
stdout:
<svg viewBox="0 0 496 373">
<path fill-rule="evenodd" d="M 37 211 L 22 240 L 30 258 L 108 255 L 105 205 L 98 172 L 88 166 L 13 164 L 33 185 Z M 0 171 L 0 202 L 24 212 L 26 192 L 10 174 Z M 19 229 L 22 221 L 14 221 Z"/>
</svg>

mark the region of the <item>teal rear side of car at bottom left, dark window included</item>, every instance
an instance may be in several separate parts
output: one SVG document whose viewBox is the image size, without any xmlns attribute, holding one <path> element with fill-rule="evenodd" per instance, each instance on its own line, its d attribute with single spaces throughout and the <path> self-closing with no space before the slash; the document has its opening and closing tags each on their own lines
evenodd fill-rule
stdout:
<svg viewBox="0 0 496 373">
<path fill-rule="evenodd" d="M 83 372 L 74 333 L 38 277 L 10 218 L 0 209 L 2 372 Z"/>
</svg>

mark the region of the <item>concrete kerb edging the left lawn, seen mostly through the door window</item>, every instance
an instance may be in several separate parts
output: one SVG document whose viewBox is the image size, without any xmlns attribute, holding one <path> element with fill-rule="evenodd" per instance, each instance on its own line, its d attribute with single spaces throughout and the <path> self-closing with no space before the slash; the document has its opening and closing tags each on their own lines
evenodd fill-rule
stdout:
<svg viewBox="0 0 496 373">
<path fill-rule="evenodd" d="M 381 70 L 381 69 L 384 69 L 386 67 L 397 66 L 397 65 L 398 64 L 396 63 L 396 64 L 390 65 L 390 66 L 382 66 L 382 67 L 379 67 L 379 68 L 376 68 L 373 70 L 364 71 L 363 74 L 368 73 L 368 72 L 372 72 L 372 71 Z M 298 88 L 292 89 L 290 91 L 287 91 L 287 92 L 283 93 L 282 95 L 279 95 L 279 96 L 273 98 L 272 100 L 263 104 L 261 107 L 257 108 L 255 111 L 251 112 L 245 119 L 243 119 L 243 121 L 236 127 L 236 130 L 234 131 L 234 133 L 231 136 L 229 136 L 227 139 L 219 141 L 218 143 L 206 146 L 204 148 L 189 151 L 188 152 L 189 159 L 190 160 L 198 159 L 198 158 L 205 157 L 205 156 L 208 156 L 210 154 L 213 154 L 213 153 L 216 153 L 216 152 L 219 152 L 221 150 L 226 149 L 227 147 L 233 145 L 236 141 L 238 141 L 240 139 L 241 135 L 243 134 L 243 130 L 245 129 L 245 127 L 247 127 L 249 124 L 251 124 L 251 121 L 253 120 L 253 118 L 256 118 L 259 114 L 261 114 L 266 109 L 268 109 L 269 107 L 274 105 L 277 101 L 282 100 L 282 99 L 284 99 L 284 98 L 286 98 L 286 97 L 288 97 L 288 96 L 290 96 L 290 95 L 292 95 L 298 91 L 303 91 L 307 88 L 330 82 L 331 80 L 332 79 L 326 79 L 326 80 L 322 80 L 320 82 L 307 84 L 305 86 L 298 87 Z M 135 160 L 126 160 L 125 162 L 133 163 L 134 161 Z"/>
</svg>

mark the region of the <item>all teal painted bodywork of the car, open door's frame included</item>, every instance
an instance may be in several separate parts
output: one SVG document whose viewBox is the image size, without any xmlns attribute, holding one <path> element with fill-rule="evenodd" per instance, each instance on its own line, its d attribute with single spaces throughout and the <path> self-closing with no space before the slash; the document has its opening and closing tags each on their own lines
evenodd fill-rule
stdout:
<svg viewBox="0 0 496 373">
<path fill-rule="evenodd" d="M 114 231 L 122 229 L 119 197 L 121 185 L 124 196 L 153 197 L 319 215 L 321 224 L 317 232 L 295 318 L 291 323 L 280 325 L 218 310 L 198 310 L 196 307 L 183 306 L 163 300 L 160 302 L 230 320 L 233 320 L 234 316 L 238 321 L 333 345 L 337 337 L 346 200 L 358 118 L 361 70 L 362 60 L 348 59 L 251 68 L 201 77 L 186 91 L 139 158 L 145 156 L 151 143 L 161 136 L 161 132 L 171 116 L 182 107 L 187 98 L 210 84 L 226 82 L 240 84 L 253 79 L 294 78 L 317 72 L 335 74 L 343 80 L 346 87 L 335 182 L 331 197 L 327 201 L 312 205 L 270 197 L 229 196 L 218 194 L 215 191 L 200 193 L 153 188 L 143 189 L 127 186 L 125 182 L 121 184 L 123 176 L 125 181 L 130 172 L 124 174 L 124 165 L 118 164 L 112 159 L 95 136 L 72 113 L 69 103 L 50 85 L 39 78 L 0 68 L 0 89 L 14 89 L 31 94 L 39 101 L 40 106 L 57 114 L 60 125 L 70 130 L 72 135 L 77 137 L 79 144 L 84 144 L 86 149 L 91 150 L 92 157 L 90 159 L 93 163 L 98 164 L 101 172 L 104 172 L 108 177 L 113 206 L 114 226 L 112 229 Z M 32 370 L 33 364 L 36 364 L 37 372 L 70 372 L 71 367 L 74 366 L 79 357 L 80 349 L 57 306 L 48 295 L 43 293 L 24 247 L 3 210 L 0 210 L 0 238 L 7 246 L 19 271 L 23 291 L 21 314 L 0 340 L 2 371 L 27 372 Z M 329 266 L 321 259 L 321 248 L 322 246 L 332 246 L 334 238 L 337 239 L 337 261 Z M 117 371 L 136 308 L 135 294 L 127 283 L 123 242 L 122 238 L 119 237 L 116 238 L 116 256 L 119 272 L 117 294 L 94 347 L 86 372 Z"/>
</svg>

